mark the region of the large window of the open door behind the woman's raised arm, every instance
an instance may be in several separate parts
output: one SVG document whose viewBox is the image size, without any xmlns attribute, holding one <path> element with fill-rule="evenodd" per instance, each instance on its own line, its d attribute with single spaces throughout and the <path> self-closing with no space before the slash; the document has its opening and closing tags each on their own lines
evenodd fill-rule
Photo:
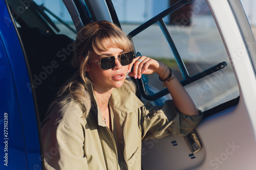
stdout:
<svg viewBox="0 0 256 170">
<path fill-rule="evenodd" d="M 205 111 L 239 96 L 225 46 L 204 0 L 185 5 L 179 1 L 113 4 L 137 56 L 152 57 L 172 68 L 199 109 Z M 156 74 L 138 83 L 147 100 L 170 98 Z"/>
</svg>

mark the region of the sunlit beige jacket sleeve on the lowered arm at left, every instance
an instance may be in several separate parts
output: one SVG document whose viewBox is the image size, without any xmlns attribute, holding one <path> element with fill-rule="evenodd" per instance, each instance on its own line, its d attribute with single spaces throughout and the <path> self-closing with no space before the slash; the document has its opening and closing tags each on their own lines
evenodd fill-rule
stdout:
<svg viewBox="0 0 256 170">
<path fill-rule="evenodd" d="M 45 169 L 89 169 L 83 152 L 83 126 L 65 118 L 52 116 L 42 126 Z"/>
</svg>

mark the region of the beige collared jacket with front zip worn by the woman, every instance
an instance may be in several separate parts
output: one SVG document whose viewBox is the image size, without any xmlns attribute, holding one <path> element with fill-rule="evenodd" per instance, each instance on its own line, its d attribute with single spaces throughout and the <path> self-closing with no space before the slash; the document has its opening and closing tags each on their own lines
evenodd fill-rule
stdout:
<svg viewBox="0 0 256 170">
<path fill-rule="evenodd" d="M 128 88 L 114 89 L 109 104 L 112 132 L 103 123 L 95 96 L 88 118 L 78 104 L 55 106 L 42 122 L 46 169 L 141 169 L 141 139 L 186 135 L 202 119 L 141 102 Z"/>
</svg>

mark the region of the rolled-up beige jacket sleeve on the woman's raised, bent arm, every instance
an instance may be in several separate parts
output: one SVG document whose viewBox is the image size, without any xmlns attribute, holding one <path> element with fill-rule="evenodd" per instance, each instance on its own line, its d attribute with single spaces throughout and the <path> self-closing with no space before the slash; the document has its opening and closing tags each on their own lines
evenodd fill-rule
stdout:
<svg viewBox="0 0 256 170">
<path fill-rule="evenodd" d="M 187 135 L 201 122 L 203 114 L 189 116 L 180 112 L 172 100 L 163 106 L 153 106 L 148 101 L 142 101 L 141 113 L 142 139 L 160 138 L 169 134 Z"/>
</svg>

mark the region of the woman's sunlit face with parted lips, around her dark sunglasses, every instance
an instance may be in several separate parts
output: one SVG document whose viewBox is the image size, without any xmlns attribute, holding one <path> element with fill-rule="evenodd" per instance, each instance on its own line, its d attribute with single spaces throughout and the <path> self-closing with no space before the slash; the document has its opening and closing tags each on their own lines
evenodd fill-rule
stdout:
<svg viewBox="0 0 256 170">
<path fill-rule="evenodd" d="M 86 69 L 92 83 L 94 84 L 94 90 L 101 90 L 102 92 L 111 90 L 112 88 L 120 88 L 126 78 L 128 66 L 122 66 L 119 62 L 118 55 L 124 53 L 123 50 L 116 47 L 109 48 L 108 51 L 101 52 L 101 56 L 93 55 L 92 62 Z M 111 69 L 101 70 L 100 69 L 100 58 L 115 56 L 115 65 Z M 96 63 L 96 62 L 98 63 Z"/>
</svg>

